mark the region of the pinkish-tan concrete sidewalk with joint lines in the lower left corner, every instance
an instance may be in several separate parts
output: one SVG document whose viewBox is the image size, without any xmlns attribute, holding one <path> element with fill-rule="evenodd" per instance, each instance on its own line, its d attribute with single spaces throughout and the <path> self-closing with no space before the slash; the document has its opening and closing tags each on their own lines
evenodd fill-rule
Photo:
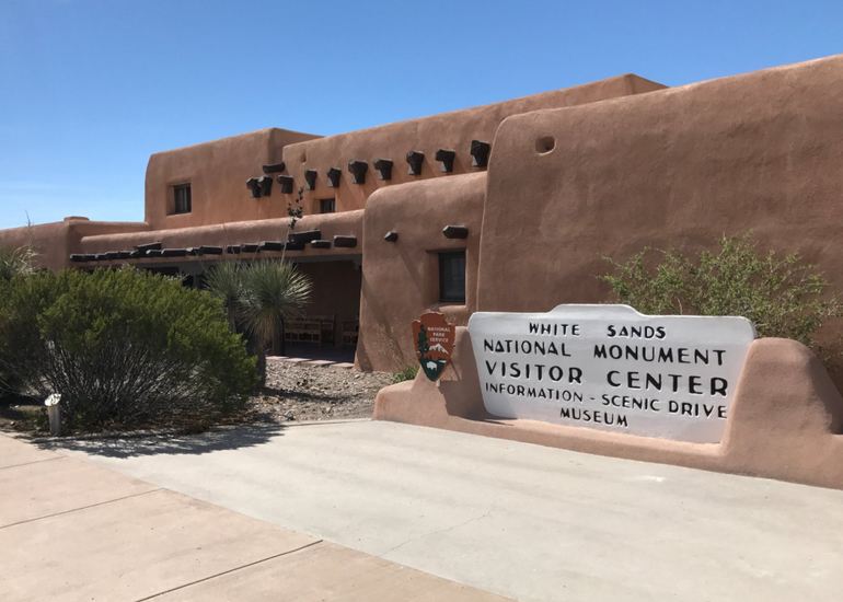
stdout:
<svg viewBox="0 0 843 602">
<path fill-rule="evenodd" d="M 3 602 L 503 600 L 2 435 L 0 566 Z"/>
</svg>

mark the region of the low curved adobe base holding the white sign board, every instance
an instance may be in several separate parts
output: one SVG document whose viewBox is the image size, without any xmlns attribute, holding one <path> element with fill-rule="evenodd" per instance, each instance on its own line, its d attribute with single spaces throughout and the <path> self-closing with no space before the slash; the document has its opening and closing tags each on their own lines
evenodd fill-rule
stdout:
<svg viewBox="0 0 843 602">
<path fill-rule="evenodd" d="M 735 395 L 719 443 L 498 418 L 484 408 L 471 338 L 458 327 L 452 364 L 439 382 L 419 373 L 381 390 L 373 418 L 843 489 L 843 398 L 810 349 L 789 339 L 755 340 Z"/>
</svg>

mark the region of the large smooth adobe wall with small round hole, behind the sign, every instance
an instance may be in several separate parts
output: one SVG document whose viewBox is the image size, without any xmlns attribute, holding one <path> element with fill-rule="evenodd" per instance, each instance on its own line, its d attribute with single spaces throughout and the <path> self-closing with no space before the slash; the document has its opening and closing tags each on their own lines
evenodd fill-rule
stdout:
<svg viewBox="0 0 843 602">
<path fill-rule="evenodd" d="M 841 97 L 843 56 L 506 119 L 478 310 L 603 301 L 603 256 L 748 230 L 800 251 L 843 290 Z"/>
</svg>

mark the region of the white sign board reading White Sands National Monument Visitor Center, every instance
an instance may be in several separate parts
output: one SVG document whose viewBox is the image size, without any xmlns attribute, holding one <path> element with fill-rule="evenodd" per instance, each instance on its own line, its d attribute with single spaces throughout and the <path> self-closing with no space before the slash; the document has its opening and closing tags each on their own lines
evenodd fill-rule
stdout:
<svg viewBox="0 0 843 602">
<path fill-rule="evenodd" d="M 478 312 L 469 333 L 494 416 L 698 443 L 723 437 L 755 338 L 744 317 L 628 305 Z"/>
</svg>

